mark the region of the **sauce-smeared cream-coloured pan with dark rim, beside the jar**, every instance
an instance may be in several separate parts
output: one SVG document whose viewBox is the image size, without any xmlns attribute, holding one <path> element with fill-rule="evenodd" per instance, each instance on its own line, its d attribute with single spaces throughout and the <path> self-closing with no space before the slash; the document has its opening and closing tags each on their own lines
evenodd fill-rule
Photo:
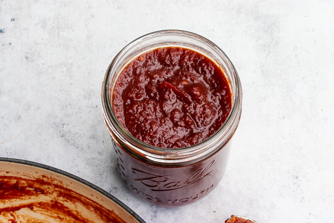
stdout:
<svg viewBox="0 0 334 223">
<path fill-rule="evenodd" d="M 1 157 L 0 222 L 145 223 L 83 179 L 40 163 Z"/>
</svg>

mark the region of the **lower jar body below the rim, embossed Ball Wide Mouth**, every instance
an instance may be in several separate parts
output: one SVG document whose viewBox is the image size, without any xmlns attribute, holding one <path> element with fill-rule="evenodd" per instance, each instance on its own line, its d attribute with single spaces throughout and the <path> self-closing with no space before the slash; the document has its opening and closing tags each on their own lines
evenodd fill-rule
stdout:
<svg viewBox="0 0 334 223">
<path fill-rule="evenodd" d="M 208 195 L 221 180 L 227 166 L 229 144 L 209 158 L 188 165 L 168 166 L 145 162 L 113 141 L 121 179 L 137 197 L 150 203 L 176 207 Z"/>
</svg>

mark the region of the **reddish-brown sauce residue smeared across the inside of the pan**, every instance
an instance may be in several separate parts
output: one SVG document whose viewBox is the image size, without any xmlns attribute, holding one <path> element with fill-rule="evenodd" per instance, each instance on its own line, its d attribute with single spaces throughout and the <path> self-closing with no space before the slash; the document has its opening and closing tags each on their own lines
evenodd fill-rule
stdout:
<svg viewBox="0 0 334 223">
<path fill-rule="evenodd" d="M 0 222 L 125 223 L 112 210 L 52 181 L 0 176 Z"/>
</svg>

